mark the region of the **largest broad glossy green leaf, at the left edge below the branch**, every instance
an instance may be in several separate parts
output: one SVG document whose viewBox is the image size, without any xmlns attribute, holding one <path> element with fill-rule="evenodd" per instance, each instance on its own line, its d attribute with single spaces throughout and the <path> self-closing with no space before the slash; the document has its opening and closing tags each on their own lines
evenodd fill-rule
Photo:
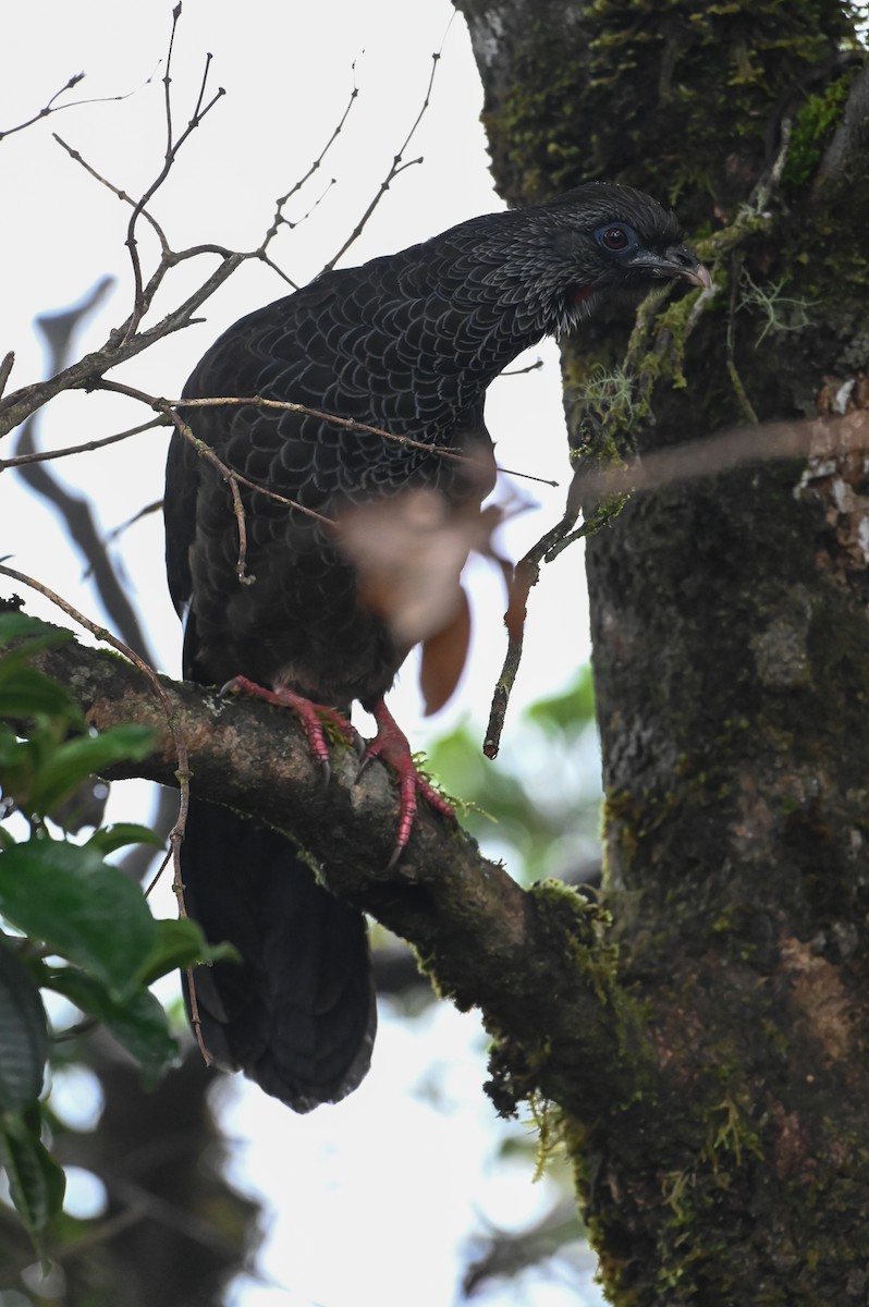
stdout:
<svg viewBox="0 0 869 1307">
<path fill-rule="evenodd" d="M 88 846 L 34 838 L 0 857 L 0 912 L 122 996 L 136 985 L 156 925 L 137 885 Z"/>
</svg>

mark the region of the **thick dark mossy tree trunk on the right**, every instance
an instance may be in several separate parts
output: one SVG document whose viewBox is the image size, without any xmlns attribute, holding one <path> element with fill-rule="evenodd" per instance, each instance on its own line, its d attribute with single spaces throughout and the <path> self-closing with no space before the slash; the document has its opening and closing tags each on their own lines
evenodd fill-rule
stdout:
<svg viewBox="0 0 869 1307">
<path fill-rule="evenodd" d="M 775 461 L 763 426 L 869 404 L 864 51 L 834 0 L 456 3 L 503 195 L 627 182 L 707 238 L 717 294 L 686 340 L 676 308 L 647 331 L 653 420 L 622 452 L 758 423 L 750 465 L 636 494 L 588 542 L 605 898 L 655 1051 L 630 1100 L 567 1104 L 604 1282 L 866 1303 L 865 456 Z M 619 433 L 582 382 L 623 346 L 617 323 L 566 346 L 587 461 Z"/>
</svg>

